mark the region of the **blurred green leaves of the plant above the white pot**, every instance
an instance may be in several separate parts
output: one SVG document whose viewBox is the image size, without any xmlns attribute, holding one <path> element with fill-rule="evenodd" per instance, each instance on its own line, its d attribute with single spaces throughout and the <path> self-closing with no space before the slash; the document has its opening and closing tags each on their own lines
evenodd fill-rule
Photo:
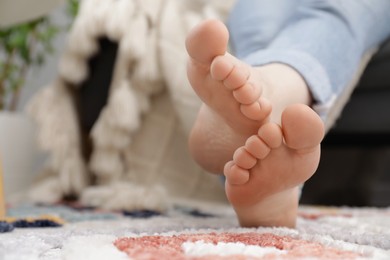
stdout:
<svg viewBox="0 0 390 260">
<path fill-rule="evenodd" d="M 79 10 L 79 0 L 67 0 L 67 14 L 71 20 Z M 60 27 L 49 16 L 0 29 L 0 110 L 6 107 L 7 95 L 13 95 L 25 84 L 27 70 L 42 65 L 53 52 L 53 40 Z"/>
</svg>

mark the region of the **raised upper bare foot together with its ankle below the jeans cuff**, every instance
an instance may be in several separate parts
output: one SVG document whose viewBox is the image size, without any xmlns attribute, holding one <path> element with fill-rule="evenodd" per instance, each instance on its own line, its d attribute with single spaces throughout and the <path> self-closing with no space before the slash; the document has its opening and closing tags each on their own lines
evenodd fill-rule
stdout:
<svg viewBox="0 0 390 260">
<path fill-rule="evenodd" d="M 204 102 L 189 147 L 203 168 L 219 174 L 262 124 L 270 119 L 280 123 L 288 105 L 311 102 L 306 83 L 295 70 L 277 63 L 251 67 L 226 52 L 228 38 L 223 23 L 208 20 L 186 41 L 188 79 Z"/>
</svg>

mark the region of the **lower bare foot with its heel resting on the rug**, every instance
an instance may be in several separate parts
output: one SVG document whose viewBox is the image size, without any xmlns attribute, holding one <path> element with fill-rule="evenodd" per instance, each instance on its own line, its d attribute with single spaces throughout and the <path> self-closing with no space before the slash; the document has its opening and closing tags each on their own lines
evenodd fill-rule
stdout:
<svg viewBox="0 0 390 260">
<path fill-rule="evenodd" d="M 289 106 L 225 165 L 226 194 L 242 226 L 295 226 L 299 186 L 316 171 L 324 126 L 308 106 Z"/>
</svg>

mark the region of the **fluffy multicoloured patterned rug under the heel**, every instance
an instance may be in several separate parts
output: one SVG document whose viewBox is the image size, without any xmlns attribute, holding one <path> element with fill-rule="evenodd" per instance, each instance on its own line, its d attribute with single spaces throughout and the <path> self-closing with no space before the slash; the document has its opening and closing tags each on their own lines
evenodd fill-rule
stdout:
<svg viewBox="0 0 390 260">
<path fill-rule="evenodd" d="M 0 259 L 390 259 L 390 209 L 299 212 L 296 229 L 248 229 L 220 204 L 164 213 L 19 205 L 3 222 L 14 226 L 0 234 Z"/>
</svg>

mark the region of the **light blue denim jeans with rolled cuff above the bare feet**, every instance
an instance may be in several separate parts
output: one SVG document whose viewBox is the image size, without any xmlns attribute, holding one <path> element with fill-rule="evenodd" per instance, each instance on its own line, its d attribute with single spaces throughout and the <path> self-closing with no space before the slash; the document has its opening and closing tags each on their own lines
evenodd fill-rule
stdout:
<svg viewBox="0 0 390 260">
<path fill-rule="evenodd" d="M 237 57 L 297 70 L 326 120 L 363 55 L 389 37 L 390 1 L 238 0 L 228 27 Z"/>
</svg>

